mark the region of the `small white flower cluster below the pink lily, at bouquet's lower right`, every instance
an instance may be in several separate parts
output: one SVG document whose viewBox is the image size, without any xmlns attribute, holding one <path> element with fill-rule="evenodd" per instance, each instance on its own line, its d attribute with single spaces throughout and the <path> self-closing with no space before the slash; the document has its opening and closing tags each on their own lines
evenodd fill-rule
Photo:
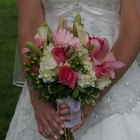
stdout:
<svg viewBox="0 0 140 140">
<path fill-rule="evenodd" d="M 111 80 L 108 77 L 102 77 L 96 80 L 96 86 L 100 90 L 103 90 L 105 87 L 109 86 Z"/>
</svg>

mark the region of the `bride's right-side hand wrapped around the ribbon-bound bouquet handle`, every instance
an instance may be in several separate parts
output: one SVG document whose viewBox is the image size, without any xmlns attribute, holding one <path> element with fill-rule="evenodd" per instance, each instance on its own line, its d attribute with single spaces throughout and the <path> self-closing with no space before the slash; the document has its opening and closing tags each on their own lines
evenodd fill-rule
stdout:
<svg viewBox="0 0 140 140">
<path fill-rule="evenodd" d="M 91 111 L 93 110 L 94 106 L 93 105 L 84 105 L 81 108 L 81 124 L 78 124 L 76 126 L 74 126 L 73 128 L 71 128 L 71 132 L 74 132 L 76 130 L 78 130 L 79 128 L 82 127 L 82 125 L 85 123 L 85 121 L 87 120 L 87 118 L 89 117 Z M 59 106 L 59 114 L 60 114 L 60 119 L 63 121 L 69 121 L 71 119 L 71 115 L 70 115 L 70 108 L 66 103 L 63 103 Z"/>
</svg>

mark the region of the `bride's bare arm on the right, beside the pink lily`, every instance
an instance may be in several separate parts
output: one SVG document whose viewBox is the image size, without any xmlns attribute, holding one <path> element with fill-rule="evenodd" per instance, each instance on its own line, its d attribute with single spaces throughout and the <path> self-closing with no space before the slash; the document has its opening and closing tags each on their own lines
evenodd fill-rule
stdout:
<svg viewBox="0 0 140 140">
<path fill-rule="evenodd" d="M 112 51 L 117 60 L 126 64 L 125 67 L 116 70 L 116 77 L 102 96 L 124 75 L 131 66 L 140 51 L 140 15 L 134 0 L 122 0 L 120 14 L 120 34 Z M 100 100 L 99 99 L 99 100 Z"/>
</svg>

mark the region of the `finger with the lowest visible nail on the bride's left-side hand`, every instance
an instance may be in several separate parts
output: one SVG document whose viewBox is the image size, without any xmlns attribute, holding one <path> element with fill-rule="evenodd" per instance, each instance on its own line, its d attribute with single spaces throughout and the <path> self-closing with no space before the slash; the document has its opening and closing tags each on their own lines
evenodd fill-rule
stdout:
<svg viewBox="0 0 140 140">
<path fill-rule="evenodd" d="M 53 129 L 51 128 L 51 125 L 49 123 L 49 121 L 47 121 L 46 119 L 42 119 L 42 124 L 44 125 L 44 129 L 46 129 L 46 131 L 50 134 L 50 136 L 54 139 L 58 139 L 57 134 L 55 133 L 55 131 L 53 131 Z"/>
</svg>

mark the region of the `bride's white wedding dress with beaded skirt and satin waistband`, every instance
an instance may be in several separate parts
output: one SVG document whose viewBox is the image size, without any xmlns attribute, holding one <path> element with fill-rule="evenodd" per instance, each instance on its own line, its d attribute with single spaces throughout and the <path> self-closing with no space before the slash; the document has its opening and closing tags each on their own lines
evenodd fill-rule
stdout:
<svg viewBox="0 0 140 140">
<path fill-rule="evenodd" d="M 106 37 L 110 47 L 119 31 L 120 0 L 42 0 L 45 18 L 54 28 L 60 15 L 69 22 L 77 12 L 85 29 Z M 124 52 L 125 55 L 125 52 Z M 140 70 L 132 64 L 104 96 L 88 121 L 74 135 L 76 140 L 140 140 Z M 39 132 L 25 83 L 6 140 L 45 140 Z"/>
</svg>

